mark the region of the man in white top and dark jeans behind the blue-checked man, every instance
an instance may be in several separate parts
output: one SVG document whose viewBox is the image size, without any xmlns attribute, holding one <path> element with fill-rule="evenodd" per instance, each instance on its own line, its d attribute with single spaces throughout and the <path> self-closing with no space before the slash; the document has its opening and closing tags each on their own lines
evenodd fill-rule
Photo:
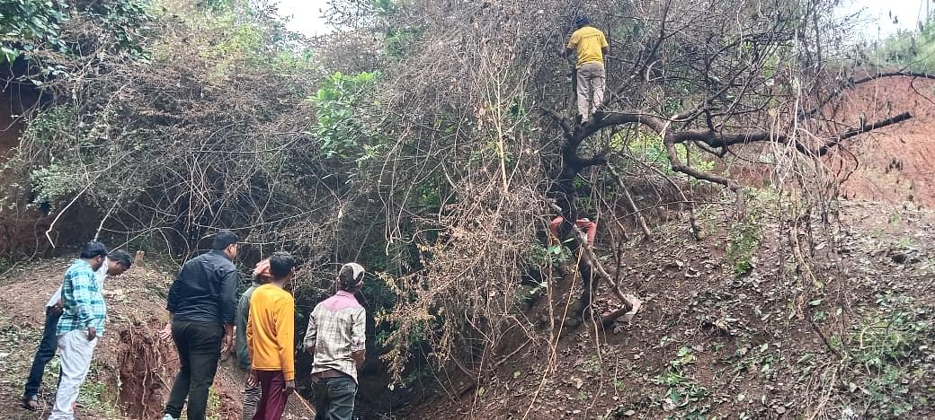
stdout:
<svg viewBox="0 0 935 420">
<path fill-rule="evenodd" d="M 88 246 L 91 244 L 86 246 L 86 250 L 89 249 Z M 82 255 L 87 254 L 82 251 Z M 117 250 L 109 253 L 101 267 L 94 271 L 94 281 L 98 290 L 104 290 L 104 279 L 108 275 L 118 276 L 129 270 L 132 264 L 130 254 L 126 251 Z M 42 373 L 52 357 L 55 357 L 55 349 L 58 347 L 58 336 L 55 333 L 63 312 L 62 287 L 60 286 L 46 303 L 46 324 L 42 329 L 42 341 L 36 350 L 36 356 L 33 357 L 33 367 L 29 370 L 26 389 L 22 394 L 22 406 L 26 410 L 36 411 L 40 408 L 38 394 L 39 386 L 42 385 Z"/>
</svg>

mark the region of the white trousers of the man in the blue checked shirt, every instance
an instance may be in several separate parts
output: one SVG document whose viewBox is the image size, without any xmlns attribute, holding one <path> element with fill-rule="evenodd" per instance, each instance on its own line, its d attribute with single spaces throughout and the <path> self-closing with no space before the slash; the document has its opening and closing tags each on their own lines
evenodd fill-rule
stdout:
<svg viewBox="0 0 935 420">
<path fill-rule="evenodd" d="M 62 381 L 55 394 L 55 406 L 49 420 L 71 420 L 75 418 L 72 404 L 78 400 L 78 391 L 91 369 L 91 357 L 97 339 L 88 341 L 87 329 L 74 329 L 58 337 L 59 360 L 62 366 Z"/>
</svg>

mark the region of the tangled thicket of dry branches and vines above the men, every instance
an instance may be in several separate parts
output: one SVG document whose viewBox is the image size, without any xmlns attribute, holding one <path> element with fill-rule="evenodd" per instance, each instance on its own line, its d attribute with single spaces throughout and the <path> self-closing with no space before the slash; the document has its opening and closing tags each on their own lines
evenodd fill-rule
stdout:
<svg viewBox="0 0 935 420">
<path fill-rule="evenodd" d="M 59 59 L 69 75 L 44 85 L 53 105 L 7 165 L 29 181 L 7 194 L 22 205 L 32 190 L 60 224 L 78 222 L 70 203 L 92 205 L 114 245 L 186 253 L 233 228 L 253 257 L 284 247 L 309 261 L 312 293 L 329 264 L 356 259 L 379 274 L 397 375 L 428 344 L 436 366 L 481 377 L 533 328 L 519 287 L 550 284 L 555 214 L 625 238 L 651 236 L 640 215 L 669 208 L 700 236 L 698 201 L 742 214 L 725 174 L 753 159 L 807 218 L 835 194 L 817 158 L 910 118 L 831 118 L 854 83 L 836 3 L 336 0 L 341 32 L 309 44 L 239 3 L 180 2 L 151 22 L 149 63 L 103 47 Z M 611 56 L 608 117 L 579 127 L 561 50 L 581 14 Z M 561 233 L 585 284 L 569 318 L 591 315 L 593 290 L 626 312 L 629 285 Z"/>
</svg>

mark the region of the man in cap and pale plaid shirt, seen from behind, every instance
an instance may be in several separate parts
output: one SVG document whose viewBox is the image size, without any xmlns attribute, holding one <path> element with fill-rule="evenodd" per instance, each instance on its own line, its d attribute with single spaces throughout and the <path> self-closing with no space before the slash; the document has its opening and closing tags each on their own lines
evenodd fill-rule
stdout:
<svg viewBox="0 0 935 420">
<path fill-rule="evenodd" d="M 364 267 L 356 262 L 341 266 L 338 292 L 315 306 L 309 315 L 305 348 L 314 355 L 311 383 L 315 420 L 350 420 L 357 394 L 357 370 L 364 364 L 367 314 L 354 298 L 364 287 Z"/>
</svg>

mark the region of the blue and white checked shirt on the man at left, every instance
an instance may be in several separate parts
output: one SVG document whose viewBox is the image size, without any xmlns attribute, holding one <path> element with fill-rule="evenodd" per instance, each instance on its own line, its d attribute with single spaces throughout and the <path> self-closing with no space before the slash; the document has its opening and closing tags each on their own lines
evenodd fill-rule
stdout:
<svg viewBox="0 0 935 420">
<path fill-rule="evenodd" d="M 91 264 L 75 259 L 71 267 L 68 267 L 65 282 L 62 284 L 62 303 L 65 313 L 59 319 L 55 335 L 89 327 L 94 327 L 98 336 L 104 334 L 104 319 L 108 310 Z"/>
</svg>

